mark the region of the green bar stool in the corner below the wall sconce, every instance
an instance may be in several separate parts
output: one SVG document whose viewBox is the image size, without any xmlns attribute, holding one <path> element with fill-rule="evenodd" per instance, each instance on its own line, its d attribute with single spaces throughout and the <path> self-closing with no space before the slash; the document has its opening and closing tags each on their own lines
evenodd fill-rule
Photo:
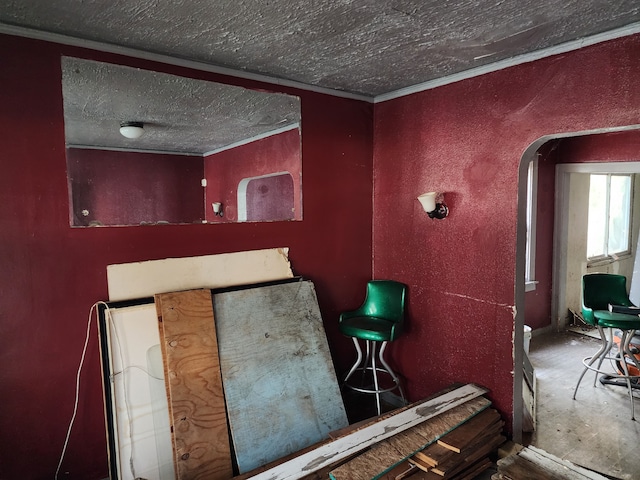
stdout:
<svg viewBox="0 0 640 480">
<path fill-rule="evenodd" d="M 375 394 L 378 415 L 382 413 L 382 393 L 398 390 L 406 404 L 400 378 L 384 359 L 388 342 L 402 333 L 406 293 L 407 286 L 400 282 L 372 280 L 367 283 L 364 303 L 356 310 L 340 314 L 340 332 L 352 338 L 357 352 L 357 359 L 345 376 L 343 385 L 357 392 Z M 365 346 L 365 355 L 361 342 Z M 373 385 L 368 383 L 370 379 Z"/>
</svg>

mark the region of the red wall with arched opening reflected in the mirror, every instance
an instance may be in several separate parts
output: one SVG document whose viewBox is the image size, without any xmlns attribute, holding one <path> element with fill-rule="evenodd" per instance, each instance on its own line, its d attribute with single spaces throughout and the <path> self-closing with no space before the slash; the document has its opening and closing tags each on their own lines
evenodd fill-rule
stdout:
<svg viewBox="0 0 640 480">
<path fill-rule="evenodd" d="M 303 135 L 305 134 L 306 129 L 303 132 Z M 243 178 L 277 172 L 291 174 L 294 188 L 294 218 L 302 218 L 302 170 L 298 129 L 209 155 L 204 160 L 204 171 L 207 178 L 207 220 L 210 222 L 238 220 L 238 184 Z M 212 215 L 212 202 L 222 202 L 224 205 L 222 218 Z"/>
</svg>

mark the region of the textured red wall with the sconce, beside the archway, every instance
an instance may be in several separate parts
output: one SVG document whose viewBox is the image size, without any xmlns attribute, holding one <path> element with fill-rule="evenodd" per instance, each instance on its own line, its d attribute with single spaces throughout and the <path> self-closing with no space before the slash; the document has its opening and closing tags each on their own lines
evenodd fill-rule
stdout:
<svg viewBox="0 0 640 480">
<path fill-rule="evenodd" d="M 545 135 L 640 124 L 639 58 L 626 37 L 376 104 L 374 276 L 409 285 L 391 353 L 411 398 L 477 382 L 511 418 L 521 158 Z M 416 200 L 432 190 L 444 220 Z"/>
</svg>

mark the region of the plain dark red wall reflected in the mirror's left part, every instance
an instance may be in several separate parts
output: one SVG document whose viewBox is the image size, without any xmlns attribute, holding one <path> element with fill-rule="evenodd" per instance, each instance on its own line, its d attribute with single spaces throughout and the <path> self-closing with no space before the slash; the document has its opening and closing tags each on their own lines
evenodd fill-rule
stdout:
<svg viewBox="0 0 640 480">
<path fill-rule="evenodd" d="M 73 225 L 204 219 L 200 157 L 69 148 L 67 172 Z"/>
</svg>

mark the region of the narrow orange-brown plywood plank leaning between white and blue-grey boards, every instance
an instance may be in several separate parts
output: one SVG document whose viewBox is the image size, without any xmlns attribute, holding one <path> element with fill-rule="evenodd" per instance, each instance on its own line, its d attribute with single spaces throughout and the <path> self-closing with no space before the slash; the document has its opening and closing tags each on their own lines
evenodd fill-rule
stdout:
<svg viewBox="0 0 640 480">
<path fill-rule="evenodd" d="M 177 480 L 233 475 L 209 290 L 155 296 Z"/>
</svg>

